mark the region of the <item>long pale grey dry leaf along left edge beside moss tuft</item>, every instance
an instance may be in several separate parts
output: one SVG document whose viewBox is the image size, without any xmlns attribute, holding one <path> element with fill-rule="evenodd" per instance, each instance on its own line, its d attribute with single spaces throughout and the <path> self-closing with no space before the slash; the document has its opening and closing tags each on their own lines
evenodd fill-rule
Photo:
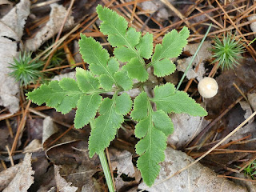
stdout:
<svg viewBox="0 0 256 192">
<path fill-rule="evenodd" d="M 8 75 L 8 66 L 18 57 L 18 42 L 29 14 L 30 1 L 22 0 L 0 20 L 0 106 L 7 107 L 12 114 L 18 111 L 19 87 Z"/>
</svg>

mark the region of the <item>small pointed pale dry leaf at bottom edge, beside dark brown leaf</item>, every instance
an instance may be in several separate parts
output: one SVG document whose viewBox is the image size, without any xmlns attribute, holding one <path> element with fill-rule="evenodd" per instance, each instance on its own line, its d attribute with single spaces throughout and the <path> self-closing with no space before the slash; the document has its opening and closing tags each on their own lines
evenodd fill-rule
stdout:
<svg viewBox="0 0 256 192">
<path fill-rule="evenodd" d="M 74 192 L 78 190 L 78 187 L 71 186 L 71 182 L 66 182 L 64 178 L 59 174 L 59 167 L 54 165 L 55 181 L 60 192 Z"/>
</svg>

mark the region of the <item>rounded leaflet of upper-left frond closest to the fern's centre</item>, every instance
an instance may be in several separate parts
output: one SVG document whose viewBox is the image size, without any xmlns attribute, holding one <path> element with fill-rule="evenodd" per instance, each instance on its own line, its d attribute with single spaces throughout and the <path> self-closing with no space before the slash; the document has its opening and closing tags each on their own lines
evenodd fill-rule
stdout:
<svg viewBox="0 0 256 192">
<path fill-rule="evenodd" d="M 133 86 L 133 81 L 128 77 L 126 70 L 119 70 L 114 74 L 114 79 L 123 90 L 130 90 Z"/>
</svg>

